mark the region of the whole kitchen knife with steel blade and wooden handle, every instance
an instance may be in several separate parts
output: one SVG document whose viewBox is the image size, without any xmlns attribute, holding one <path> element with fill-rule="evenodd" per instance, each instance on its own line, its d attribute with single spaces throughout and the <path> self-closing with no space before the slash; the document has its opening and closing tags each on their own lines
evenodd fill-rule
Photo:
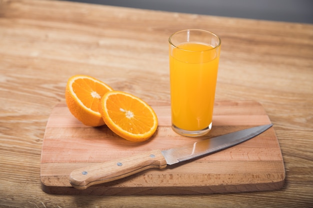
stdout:
<svg viewBox="0 0 313 208">
<path fill-rule="evenodd" d="M 69 183 L 76 189 L 84 190 L 89 186 L 111 182 L 147 169 L 163 169 L 167 165 L 173 165 L 235 146 L 261 134 L 271 126 L 272 124 L 257 126 L 200 140 L 182 147 L 163 151 L 155 150 L 80 168 L 70 173 Z"/>
</svg>

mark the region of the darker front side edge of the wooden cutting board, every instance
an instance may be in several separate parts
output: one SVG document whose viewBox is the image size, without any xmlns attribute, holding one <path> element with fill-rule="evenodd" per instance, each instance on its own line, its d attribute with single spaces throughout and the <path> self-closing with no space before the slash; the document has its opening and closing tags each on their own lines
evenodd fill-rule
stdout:
<svg viewBox="0 0 313 208">
<path fill-rule="evenodd" d="M 101 187 L 93 186 L 86 190 L 77 190 L 72 187 L 50 187 L 41 183 L 41 189 L 46 194 L 52 195 L 90 195 L 90 196 L 144 196 L 144 195 L 203 195 L 226 194 L 241 192 L 274 191 L 283 188 L 285 178 L 281 181 L 262 184 L 205 186 L 205 187 Z"/>
</svg>

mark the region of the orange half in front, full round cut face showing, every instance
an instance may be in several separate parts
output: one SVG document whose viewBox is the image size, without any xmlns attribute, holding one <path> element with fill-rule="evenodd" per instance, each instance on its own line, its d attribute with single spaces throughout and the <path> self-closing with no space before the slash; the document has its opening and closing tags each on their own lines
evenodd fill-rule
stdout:
<svg viewBox="0 0 313 208">
<path fill-rule="evenodd" d="M 132 142 L 149 139 L 157 128 L 157 117 L 153 109 L 140 98 L 126 92 L 105 93 L 99 111 L 108 128 Z"/>
</svg>

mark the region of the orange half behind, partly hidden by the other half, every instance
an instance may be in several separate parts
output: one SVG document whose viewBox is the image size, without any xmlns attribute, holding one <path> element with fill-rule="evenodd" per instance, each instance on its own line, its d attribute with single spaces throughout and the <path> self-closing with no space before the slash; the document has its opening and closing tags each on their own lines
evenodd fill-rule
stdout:
<svg viewBox="0 0 313 208">
<path fill-rule="evenodd" d="M 65 100 L 71 114 L 86 126 L 104 125 L 98 111 L 101 97 L 113 89 L 87 75 L 75 75 L 68 79 Z"/>
</svg>

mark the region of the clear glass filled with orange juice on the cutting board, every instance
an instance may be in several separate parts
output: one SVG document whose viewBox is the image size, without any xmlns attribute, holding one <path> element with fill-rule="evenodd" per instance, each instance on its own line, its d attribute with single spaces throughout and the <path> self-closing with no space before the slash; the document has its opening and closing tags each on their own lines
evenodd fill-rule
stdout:
<svg viewBox="0 0 313 208">
<path fill-rule="evenodd" d="M 183 136 L 202 136 L 212 127 L 220 38 L 186 29 L 168 41 L 172 129 Z"/>
</svg>

